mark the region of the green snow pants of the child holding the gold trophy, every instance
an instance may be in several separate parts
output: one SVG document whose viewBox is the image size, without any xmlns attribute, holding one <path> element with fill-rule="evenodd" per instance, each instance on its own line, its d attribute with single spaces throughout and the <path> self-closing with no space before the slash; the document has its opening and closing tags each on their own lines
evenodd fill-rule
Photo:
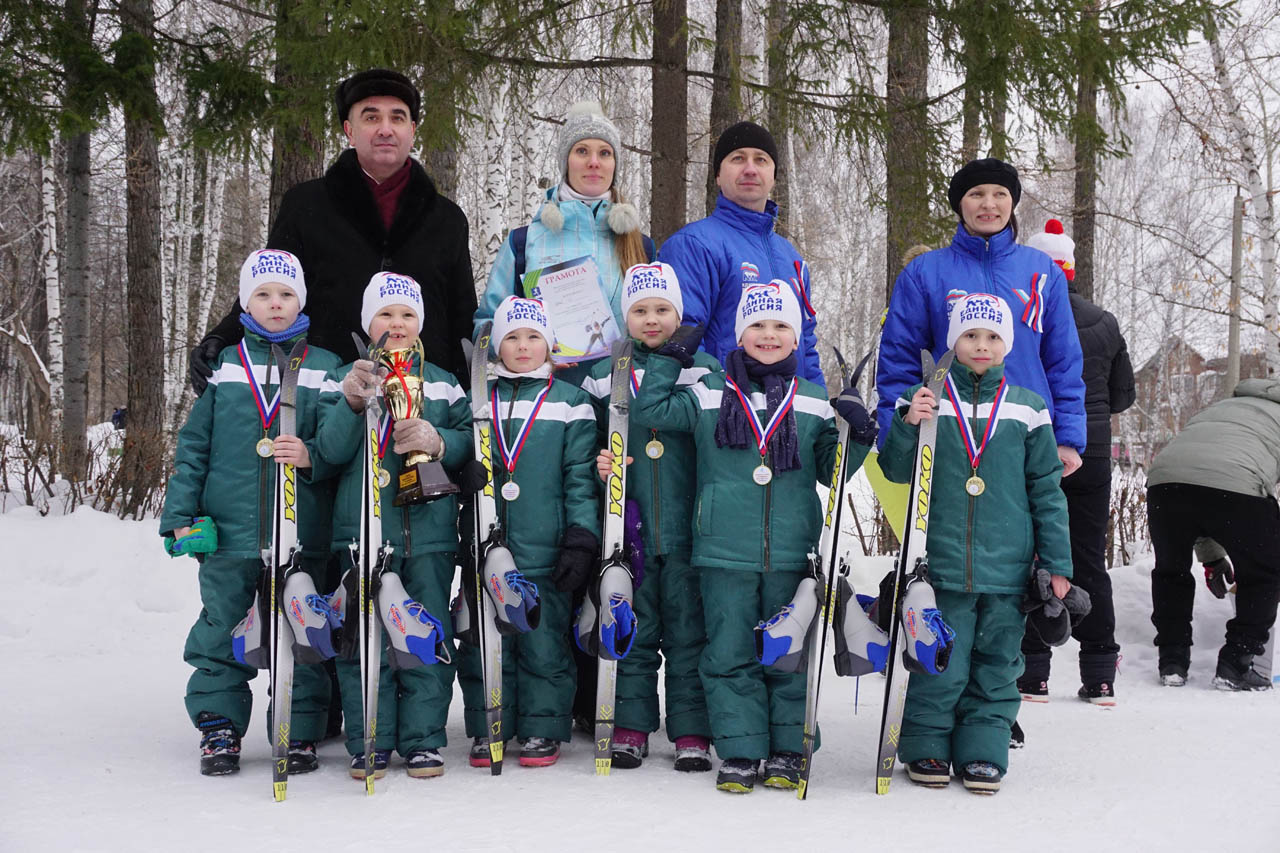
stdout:
<svg viewBox="0 0 1280 853">
<path fill-rule="evenodd" d="M 444 625 L 444 640 L 453 648 L 449 619 L 449 588 L 453 585 L 453 552 L 420 553 L 392 564 L 404 581 L 404 590 Z M 381 667 L 378 676 L 378 731 L 375 749 L 394 749 L 402 756 L 416 749 L 445 745 L 444 725 L 453 698 L 454 665 L 431 663 L 412 670 L 392 670 L 383 631 Z M 361 703 L 360 658 L 338 661 L 342 716 L 347 753 L 365 751 L 365 711 Z"/>
</svg>

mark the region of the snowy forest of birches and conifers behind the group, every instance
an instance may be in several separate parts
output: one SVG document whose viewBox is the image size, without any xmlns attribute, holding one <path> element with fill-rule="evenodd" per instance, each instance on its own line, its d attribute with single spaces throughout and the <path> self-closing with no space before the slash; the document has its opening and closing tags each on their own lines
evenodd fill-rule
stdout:
<svg viewBox="0 0 1280 853">
<path fill-rule="evenodd" d="M 719 131 L 769 127 L 828 369 L 874 343 L 904 252 L 950 240 L 950 174 L 1012 161 L 1023 238 L 1066 223 L 1138 369 L 1121 549 L 1151 455 L 1280 370 L 1277 0 L 0 0 L 0 491 L 155 510 L 187 352 L 344 147 L 334 85 L 376 65 L 422 90 L 415 156 L 467 213 L 477 289 L 573 101 L 620 126 L 659 245 L 714 204 Z"/>
</svg>

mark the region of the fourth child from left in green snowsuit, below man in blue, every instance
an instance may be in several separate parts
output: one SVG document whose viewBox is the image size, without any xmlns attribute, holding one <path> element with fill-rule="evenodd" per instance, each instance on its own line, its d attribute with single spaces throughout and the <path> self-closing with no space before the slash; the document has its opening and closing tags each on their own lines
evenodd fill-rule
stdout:
<svg viewBox="0 0 1280 853">
<path fill-rule="evenodd" d="M 632 396 L 644 384 L 649 356 L 680 325 L 682 307 L 680 282 L 669 264 L 637 264 L 627 270 L 622 314 L 635 339 Z M 595 401 L 602 439 L 609 419 L 611 369 L 609 360 L 603 359 L 582 383 Z M 689 387 L 717 371 L 719 362 L 698 352 L 694 366 L 680 371 L 676 387 Z M 664 665 L 666 727 L 667 738 L 676 744 L 676 770 L 707 771 L 712 768 L 712 731 L 698 676 L 707 631 L 689 524 L 694 515 L 694 439 L 689 433 L 646 428 L 631 420 L 627 446 L 635 460 L 627 467 L 627 502 L 635 502 L 640 511 L 644 569 L 635 588 L 636 638 L 618 662 L 613 766 L 639 767 L 649 752 L 649 733 L 659 725 L 658 667 Z M 607 448 L 600 451 L 602 480 L 612 459 Z"/>
</svg>

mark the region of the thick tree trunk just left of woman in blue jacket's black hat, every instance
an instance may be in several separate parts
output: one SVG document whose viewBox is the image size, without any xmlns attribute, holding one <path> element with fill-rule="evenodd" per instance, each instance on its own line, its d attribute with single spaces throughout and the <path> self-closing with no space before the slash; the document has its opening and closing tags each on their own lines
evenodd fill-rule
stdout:
<svg viewBox="0 0 1280 853">
<path fill-rule="evenodd" d="M 902 255 L 928 238 L 929 14 L 924 6 L 886 6 L 888 56 L 884 81 L 888 138 L 884 145 L 888 248 L 884 298 L 902 266 Z"/>
</svg>

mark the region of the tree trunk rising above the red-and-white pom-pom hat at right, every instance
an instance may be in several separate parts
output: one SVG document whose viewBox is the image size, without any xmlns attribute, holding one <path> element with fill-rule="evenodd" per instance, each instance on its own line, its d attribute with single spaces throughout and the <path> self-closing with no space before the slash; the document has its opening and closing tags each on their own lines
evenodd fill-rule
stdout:
<svg viewBox="0 0 1280 853">
<path fill-rule="evenodd" d="M 1093 231 L 1098 207 L 1098 79 L 1091 46 L 1098 35 L 1098 1 L 1091 0 L 1080 20 L 1083 45 L 1075 90 L 1075 191 L 1071 237 L 1075 240 L 1075 280 L 1080 296 L 1093 298 Z"/>
</svg>

